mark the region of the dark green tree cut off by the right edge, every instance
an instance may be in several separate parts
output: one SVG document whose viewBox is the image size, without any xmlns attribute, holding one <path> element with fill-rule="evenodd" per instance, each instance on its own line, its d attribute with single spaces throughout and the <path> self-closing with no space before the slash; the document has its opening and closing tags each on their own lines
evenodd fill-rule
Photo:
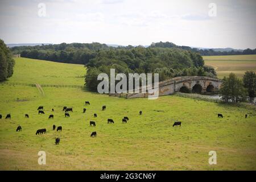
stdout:
<svg viewBox="0 0 256 182">
<path fill-rule="evenodd" d="M 256 92 L 256 75 L 254 71 L 245 72 L 245 75 L 243 75 L 243 85 L 247 89 L 250 101 L 253 101 Z"/>
</svg>

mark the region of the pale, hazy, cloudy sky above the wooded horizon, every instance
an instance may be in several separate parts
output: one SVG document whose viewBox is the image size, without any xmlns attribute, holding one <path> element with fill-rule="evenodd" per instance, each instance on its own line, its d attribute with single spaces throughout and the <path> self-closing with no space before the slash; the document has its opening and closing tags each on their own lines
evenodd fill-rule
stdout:
<svg viewBox="0 0 256 182">
<path fill-rule="evenodd" d="M 0 39 L 256 48 L 255 0 L 1 0 Z"/>
</svg>

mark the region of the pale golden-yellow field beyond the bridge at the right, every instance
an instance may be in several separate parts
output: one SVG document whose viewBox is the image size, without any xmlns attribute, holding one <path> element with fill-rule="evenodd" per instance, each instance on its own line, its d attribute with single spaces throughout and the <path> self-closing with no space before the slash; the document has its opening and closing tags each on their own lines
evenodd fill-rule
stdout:
<svg viewBox="0 0 256 182">
<path fill-rule="evenodd" d="M 256 55 L 234 55 L 234 56 L 203 56 L 205 65 L 216 69 L 218 78 L 228 76 L 233 72 L 242 78 L 246 71 L 256 72 Z"/>
</svg>

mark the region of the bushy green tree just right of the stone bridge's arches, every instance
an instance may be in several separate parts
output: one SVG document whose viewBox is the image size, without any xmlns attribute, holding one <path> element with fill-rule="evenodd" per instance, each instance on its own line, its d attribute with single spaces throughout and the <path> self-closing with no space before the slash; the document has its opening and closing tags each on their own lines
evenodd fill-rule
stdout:
<svg viewBox="0 0 256 182">
<path fill-rule="evenodd" d="M 246 89 L 243 87 L 242 80 L 238 79 L 234 73 L 230 73 L 229 77 L 224 77 L 220 88 L 220 96 L 225 102 L 245 101 Z"/>
</svg>

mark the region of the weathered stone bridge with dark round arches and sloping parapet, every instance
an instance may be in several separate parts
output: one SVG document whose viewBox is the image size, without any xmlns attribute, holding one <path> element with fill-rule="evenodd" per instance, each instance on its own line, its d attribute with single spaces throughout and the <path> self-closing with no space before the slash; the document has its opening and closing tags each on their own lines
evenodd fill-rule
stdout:
<svg viewBox="0 0 256 182">
<path fill-rule="evenodd" d="M 159 82 L 159 96 L 174 94 L 175 92 L 217 93 L 222 80 L 204 76 L 181 76 Z M 148 97 L 148 93 L 111 94 L 112 96 L 137 98 Z"/>
</svg>

